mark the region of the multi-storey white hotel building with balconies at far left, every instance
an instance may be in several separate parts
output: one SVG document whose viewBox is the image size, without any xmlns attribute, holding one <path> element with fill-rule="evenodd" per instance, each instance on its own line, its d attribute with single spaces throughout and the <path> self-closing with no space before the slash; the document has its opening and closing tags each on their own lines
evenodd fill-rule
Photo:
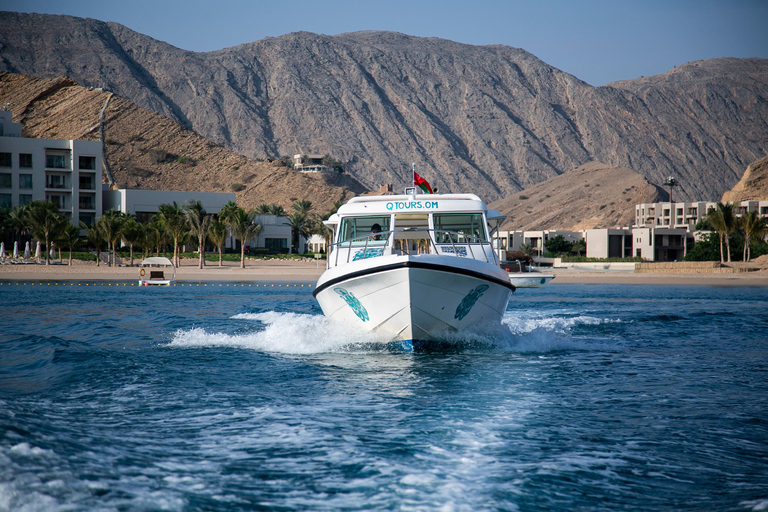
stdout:
<svg viewBox="0 0 768 512">
<path fill-rule="evenodd" d="M 21 123 L 0 111 L 0 207 L 51 201 L 79 226 L 101 215 L 101 143 L 21 136 Z"/>
</svg>

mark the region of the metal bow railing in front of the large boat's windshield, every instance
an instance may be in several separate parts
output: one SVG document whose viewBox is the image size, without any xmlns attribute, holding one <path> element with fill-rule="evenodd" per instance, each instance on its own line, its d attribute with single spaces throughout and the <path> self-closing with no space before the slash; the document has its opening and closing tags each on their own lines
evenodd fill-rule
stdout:
<svg viewBox="0 0 768 512">
<path fill-rule="evenodd" d="M 416 238 L 413 235 L 418 233 L 424 233 L 424 238 Z M 398 237 L 398 234 L 406 235 Z M 445 240 L 447 242 L 438 242 L 436 240 Z M 354 238 L 348 238 L 341 242 L 335 242 L 330 245 L 329 249 L 332 253 L 335 253 L 334 266 L 339 265 L 339 256 L 343 252 L 341 249 L 347 249 L 346 261 L 342 263 L 349 263 L 351 261 L 357 261 L 361 259 L 375 258 L 378 256 L 384 256 L 385 254 L 391 254 L 392 249 L 395 246 L 396 241 L 401 241 L 402 254 L 410 254 L 410 240 L 426 241 L 429 245 L 427 251 L 421 251 L 421 253 L 427 252 L 430 254 L 440 254 L 444 256 L 464 256 L 469 251 L 469 257 L 476 260 L 485 260 L 486 263 L 493 263 L 498 265 L 499 261 L 496 257 L 496 252 L 493 250 L 493 246 L 490 241 L 483 238 L 467 235 L 459 231 L 450 231 L 446 229 L 428 229 L 408 227 L 394 229 L 391 231 L 382 231 L 380 233 L 371 233 L 369 235 L 358 236 Z M 474 246 L 474 247 L 473 247 Z M 358 249 L 353 251 L 353 248 Z M 441 250 L 442 249 L 442 250 Z M 475 251 L 482 253 L 482 257 L 477 257 Z M 418 254 L 417 250 L 417 254 Z M 354 254 L 354 255 L 353 255 Z M 491 255 L 489 258 L 488 255 Z M 328 259 L 329 263 L 331 259 Z"/>
</svg>

